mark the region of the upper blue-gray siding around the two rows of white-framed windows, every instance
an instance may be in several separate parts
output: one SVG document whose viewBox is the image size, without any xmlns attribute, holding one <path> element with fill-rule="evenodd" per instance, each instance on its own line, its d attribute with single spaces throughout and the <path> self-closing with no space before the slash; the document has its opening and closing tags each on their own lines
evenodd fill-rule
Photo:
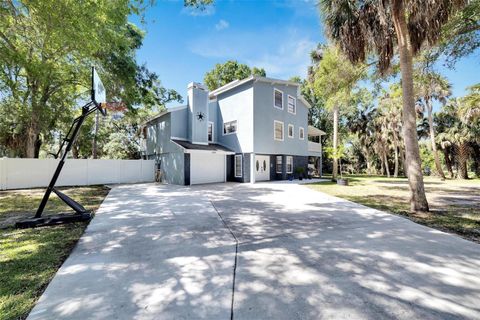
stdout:
<svg viewBox="0 0 480 320">
<path fill-rule="evenodd" d="M 273 106 L 274 88 L 283 91 L 283 110 Z M 296 98 L 296 114 L 287 110 L 288 95 Z M 308 108 L 298 99 L 297 87 L 272 85 L 265 82 L 254 84 L 254 150 L 257 154 L 308 155 Z M 283 141 L 273 138 L 274 120 L 284 124 Z M 294 126 L 294 137 L 288 137 L 288 125 Z M 304 129 L 304 139 L 299 139 L 299 128 Z"/>
</svg>

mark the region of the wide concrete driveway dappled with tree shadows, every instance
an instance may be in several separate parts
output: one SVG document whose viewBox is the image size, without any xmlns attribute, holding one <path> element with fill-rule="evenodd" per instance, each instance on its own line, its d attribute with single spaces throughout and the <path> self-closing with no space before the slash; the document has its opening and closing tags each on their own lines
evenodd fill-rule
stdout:
<svg viewBox="0 0 480 320">
<path fill-rule="evenodd" d="M 480 319 L 480 245 L 288 182 L 121 186 L 29 319 L 232 315 Z"/>
</svg>

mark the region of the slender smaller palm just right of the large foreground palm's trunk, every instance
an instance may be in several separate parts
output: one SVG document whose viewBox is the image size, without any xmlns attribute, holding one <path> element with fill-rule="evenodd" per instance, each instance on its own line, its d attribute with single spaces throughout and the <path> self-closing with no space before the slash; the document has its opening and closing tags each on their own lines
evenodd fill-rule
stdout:
<svg viewBox="0 0 480 320">
<path fill-rule="evenodd" d="M 435 127 L 433 124 L 433 105 L 432 100 L 435 99 L 442 104 L 445 104 L 447 98 L 452 94 L 451 85 L 447 79 L 440 74 L 433 71 L 419 72 L 416 74 L 416 91 L 417 95 L 421 97 L 427 109 L 428 129 L 430 142 L 432 145 L 433 157 L 435 159 L 435 167 L 438 175 L 445 179 L 440 158 L 438 156 L 437 144 L 435 142 Z"/>
</svg>

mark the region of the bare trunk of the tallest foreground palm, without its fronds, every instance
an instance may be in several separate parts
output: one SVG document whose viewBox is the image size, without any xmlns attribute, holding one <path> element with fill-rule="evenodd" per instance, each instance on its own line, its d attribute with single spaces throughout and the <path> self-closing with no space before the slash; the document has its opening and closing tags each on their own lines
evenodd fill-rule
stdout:
<svg viewBox="0 0 480 320">
<path fill-rule="evenodd" d="M 392 0 L 393 23 L 400 53 L 403 100 L 403 134 L 405 142 L 407 176 L 410 187 L 410 210 L 428 211 L 422 165 L 418 148 L 415 98 L 413 92 L 412 47 L 410 44 L 403 0 Z"/>
</svg>

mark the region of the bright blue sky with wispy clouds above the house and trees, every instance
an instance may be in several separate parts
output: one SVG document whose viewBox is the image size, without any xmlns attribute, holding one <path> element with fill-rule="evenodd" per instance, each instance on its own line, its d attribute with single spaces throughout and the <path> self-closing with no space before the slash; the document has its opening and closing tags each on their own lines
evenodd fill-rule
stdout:
<svg viewBox="0 0 480 320">
<path fill-rule="evenodd" d="M 267 76 L 305 76 L 309 52 L 325 37 L 315 0 L 217 0 L 204 12 L 181 0 L 158 0 L 146 13 L 140 63 L 160 75 L 165 87 L 183 97 L 187 84 L 202 82 L 216 63 L 234 59 L 262 67 Z M 480 81 L 478 53 L 449 70 L 439 65 L 453 94 Z"/>
</svg>

